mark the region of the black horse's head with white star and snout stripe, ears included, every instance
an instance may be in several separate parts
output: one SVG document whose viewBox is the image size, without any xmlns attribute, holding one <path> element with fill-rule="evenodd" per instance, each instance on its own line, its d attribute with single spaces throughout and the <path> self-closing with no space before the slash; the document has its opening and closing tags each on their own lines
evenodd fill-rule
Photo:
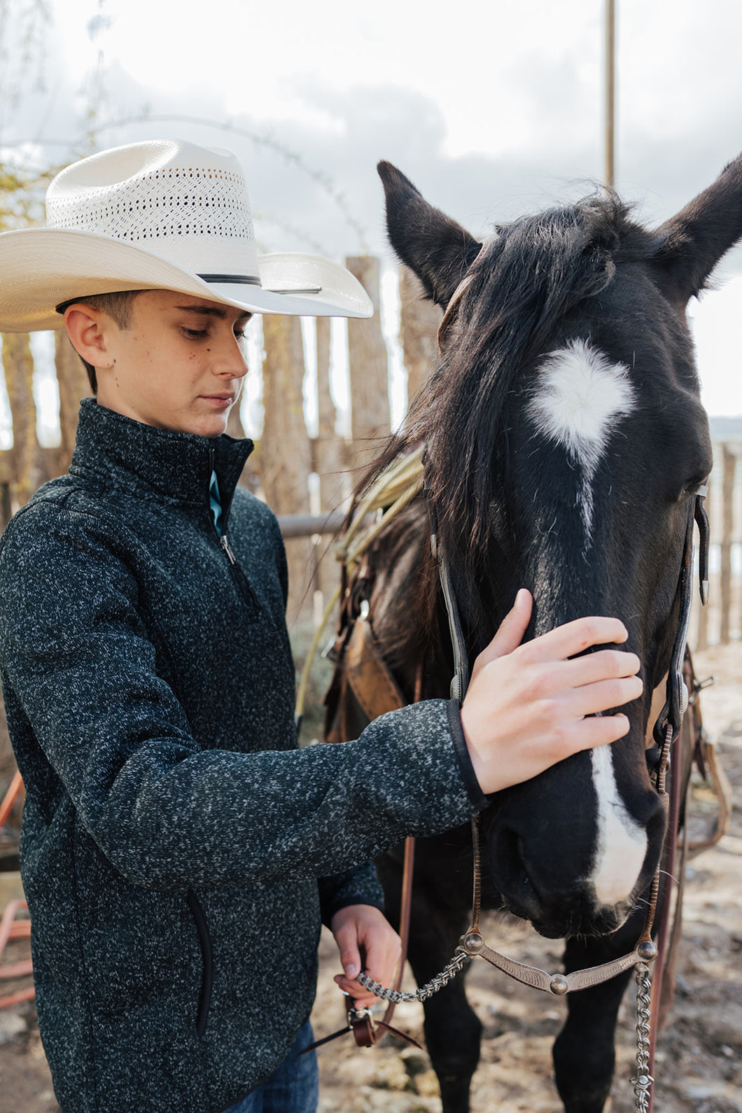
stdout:
<svg viewBox="0 0 742 1113">
<path fill-rule="evenodd" d="M 489 864 L 505 906 L 545 935 L 616 929 L 661 854 L 647 771 L 653 689 L 711 443 L 685 319 L 742 236 L 742 156 L 654 230 L 614 195 L 497 227 L 484 243 L 379 164 L 389 238 L 444 309 L 441 359 L 404 440 L 426 486 L 469 654 L 517 588 L 526 637 L 612 614 L 642 661 L 629 735 L 498 794 Z"/>
</svg>

